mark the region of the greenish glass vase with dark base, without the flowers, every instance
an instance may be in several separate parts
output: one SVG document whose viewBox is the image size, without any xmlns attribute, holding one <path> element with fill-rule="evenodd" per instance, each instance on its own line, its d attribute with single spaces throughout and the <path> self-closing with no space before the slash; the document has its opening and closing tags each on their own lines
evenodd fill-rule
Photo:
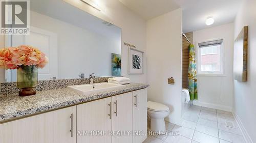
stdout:
<svg viewBox="0 0 256 143">
<path fill-rule="evenodd" d="M 19 66 L 17 69 L 17 87 L 20 90 L 19 96 L 35 95 L 35 87 L 38 83 L 37 66 Z"/>
</svg>

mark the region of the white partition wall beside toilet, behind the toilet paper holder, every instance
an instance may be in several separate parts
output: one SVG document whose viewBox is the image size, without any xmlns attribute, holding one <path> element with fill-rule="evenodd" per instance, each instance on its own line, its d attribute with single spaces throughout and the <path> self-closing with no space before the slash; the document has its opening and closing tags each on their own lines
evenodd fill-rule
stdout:
<svg viewBox="0 0 256 143">
<path fill-rule="evenodd" d="M 147 21 L 148 100 L 170 108 L 168 121 L 181 124 L 182 91 L 182 10 L 166 13 Z M 174 77 L 175 84 L 167 78 Z"/>
</svg>

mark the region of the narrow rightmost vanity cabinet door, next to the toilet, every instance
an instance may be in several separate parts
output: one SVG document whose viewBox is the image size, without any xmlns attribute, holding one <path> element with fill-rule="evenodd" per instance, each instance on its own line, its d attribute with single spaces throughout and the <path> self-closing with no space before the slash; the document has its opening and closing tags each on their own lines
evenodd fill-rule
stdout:
<svg viewBox="0 0 256 143">
<path fill-rule="evenodd" d="M 147 134 L 147 89 L 133 92 L 133 143 L 141 143 Z M 139 132 L 142 131 L 142 132 Z M 140 134 L 138 134 L 138 132 Z M 143 134 L 143 135 L 141 135 Z"/>
</svg>

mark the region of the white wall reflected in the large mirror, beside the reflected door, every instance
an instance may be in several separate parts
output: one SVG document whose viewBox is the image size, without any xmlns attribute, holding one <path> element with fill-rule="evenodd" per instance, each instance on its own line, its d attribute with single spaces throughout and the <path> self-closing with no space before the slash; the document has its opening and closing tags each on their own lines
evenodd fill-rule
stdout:
<svg viewBox="0 0 256 143">
<path fill-rule="evenodd" d="M 58 79 L 78 78 L 80 72 L 86 77 L 90 73 L 112 76 L 111 53 L 121 54 L 121 39 L 33 11 L 30 12 L 30 25 L 57 34 Z"/>
</svg>

